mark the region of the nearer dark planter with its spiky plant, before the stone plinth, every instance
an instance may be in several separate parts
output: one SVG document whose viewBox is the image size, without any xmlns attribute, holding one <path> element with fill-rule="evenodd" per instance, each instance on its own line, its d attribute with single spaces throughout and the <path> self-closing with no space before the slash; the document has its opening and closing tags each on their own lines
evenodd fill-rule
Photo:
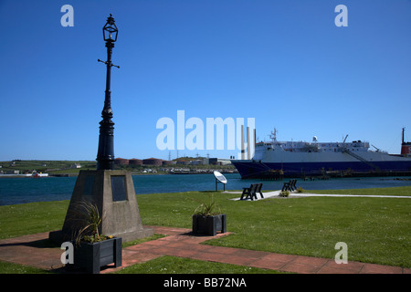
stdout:
<svg viewBox="0 0 411 292">
<path fill-rule="evenodd" d="M 121 266 L 121 237 L 100 234 L 99 208 L 88 201 L 79 203 L 79 232 L 74 245 L 74 267 L 99 274 L 101 266 Z"/>
</svg>

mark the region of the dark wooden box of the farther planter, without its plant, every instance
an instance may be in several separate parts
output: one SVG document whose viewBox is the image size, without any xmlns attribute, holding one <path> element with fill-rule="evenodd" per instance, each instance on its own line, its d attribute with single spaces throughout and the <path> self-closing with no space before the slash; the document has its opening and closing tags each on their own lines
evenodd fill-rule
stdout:
<svg viewBox="0 0 411 292">
<path fill-rule="evenodd" d="M 216 235 L 217 232 L 227 232 L 226 214 L 214 216 L 193 215 L 193 233 L 195 235 Z"/>
</svg>

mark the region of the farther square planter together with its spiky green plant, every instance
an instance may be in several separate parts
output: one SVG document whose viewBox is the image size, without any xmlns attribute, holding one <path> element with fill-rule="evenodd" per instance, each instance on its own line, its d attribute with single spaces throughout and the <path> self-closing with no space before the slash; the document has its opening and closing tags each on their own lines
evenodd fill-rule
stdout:
<svg viewBox="0 0 411 292">
<path fill-rule="evenodd" d="M 193 214 L 193 233 L 195 235 L 216 235 L 218 231 L 227 232 L 227 216 L 221 214 L 219 207 L 211 196 L 210 203 L 202 203 Z"/>
</svg>

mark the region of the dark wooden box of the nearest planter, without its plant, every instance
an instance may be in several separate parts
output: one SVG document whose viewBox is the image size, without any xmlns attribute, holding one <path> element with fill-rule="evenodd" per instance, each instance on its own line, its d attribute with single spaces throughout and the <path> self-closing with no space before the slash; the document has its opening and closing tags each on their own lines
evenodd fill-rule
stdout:
<svg viewBox="0 0 411 292">
<path fill-rule="evenodd" d="M 114 237 L 94 244 L 81 242 L 74 245 L 74 267 L 88 273 L 100 274 L 100 267 L 114 263 L 121 266 L 121 237 Z"/>
</svg>

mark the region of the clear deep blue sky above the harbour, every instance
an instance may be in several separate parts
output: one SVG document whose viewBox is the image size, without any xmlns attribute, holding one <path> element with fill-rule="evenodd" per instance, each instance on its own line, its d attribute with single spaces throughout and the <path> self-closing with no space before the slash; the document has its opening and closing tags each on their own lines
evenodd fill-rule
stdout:
<svg viewBox="0 0 411 292">
<path fill-rule="evenodd" d="M 62 5 L 74 8 L 63 27 Z M 337 27 L 336 5 L 348 8 Z M 411 140 L 410 0 L 0 1 L 0 161 L 95 160 L 101 28 L 119 27 L 116 157 L 167 159 L 157 120 L 255 118 L 259 140 Z M 186 130 L 187 134 L 189 130 Z M 179 151 L 228 158 L 236 151 Z M 176 151 L 172 151 L 172 158 Z"/>
</svg>

